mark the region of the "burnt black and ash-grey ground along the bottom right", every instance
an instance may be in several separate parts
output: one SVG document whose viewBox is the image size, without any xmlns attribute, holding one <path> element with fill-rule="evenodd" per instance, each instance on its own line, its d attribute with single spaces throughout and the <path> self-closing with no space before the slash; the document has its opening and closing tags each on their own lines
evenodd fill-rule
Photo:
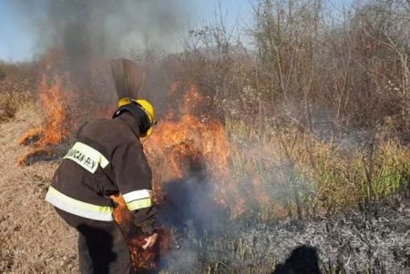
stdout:
<svg viewBox="0 0 410 274">
<path fill-rule="evenodd" d="M 272 273 L 302 245 L 317 249 L 322 273 L 410 273 L 409 200 L 377 215 L 234 221 L 225 224 L 223 233 L 200 235 L 187 221 L 190 226 L 178 235 L 179 249 L 161 273 Z"/>
</svg>

